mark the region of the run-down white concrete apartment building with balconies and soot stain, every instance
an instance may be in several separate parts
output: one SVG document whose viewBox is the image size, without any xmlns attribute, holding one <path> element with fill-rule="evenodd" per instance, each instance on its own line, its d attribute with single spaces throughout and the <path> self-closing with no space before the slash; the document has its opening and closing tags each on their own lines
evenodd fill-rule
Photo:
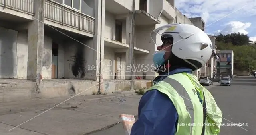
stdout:
<svg viewBox="0 0 256 135">
<path fill-rule="evenodd" d="M 150 32 L 168 23 L 196 23 L 174 5 L 174 0 L 0 0 L 0 78 L 36 81 L 44 98 L 146 87 L 154 71 L 144 75 L 122 65 L 148 63 L 151 70 L 156 46 Z"/>
</svg>

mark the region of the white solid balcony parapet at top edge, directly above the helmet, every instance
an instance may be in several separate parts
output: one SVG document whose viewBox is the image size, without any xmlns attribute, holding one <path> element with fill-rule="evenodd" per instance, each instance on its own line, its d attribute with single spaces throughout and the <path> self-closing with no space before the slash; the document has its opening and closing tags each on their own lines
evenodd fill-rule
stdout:
<svg viewBox="0 0 256 135">
<path fill-rule="evenodd" d="M 168 0 L 174 2 L 174 0 Z M 175 8 L 173 4 L 169 3 L 167 0 L 163 0 L 163 15 L 165 15 L 168 19 L 175 19 Z"/>
</svg>

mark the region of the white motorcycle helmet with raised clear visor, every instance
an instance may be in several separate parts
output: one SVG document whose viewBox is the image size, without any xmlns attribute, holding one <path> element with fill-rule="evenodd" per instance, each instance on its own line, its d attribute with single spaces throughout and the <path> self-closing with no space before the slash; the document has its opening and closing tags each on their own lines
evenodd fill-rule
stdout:
<svg viewBox="0 0 256 135">
<path fill-rule="evenodd" d="M 174 23 L 151 32 L 151 39 L 157 46 L 166 38 L 173 39 L 172 54 L 191 65 L 193 70 L 201 68 L 211 56 L 218 59 L 208 35 L 194 25 Z"/>
</svg>

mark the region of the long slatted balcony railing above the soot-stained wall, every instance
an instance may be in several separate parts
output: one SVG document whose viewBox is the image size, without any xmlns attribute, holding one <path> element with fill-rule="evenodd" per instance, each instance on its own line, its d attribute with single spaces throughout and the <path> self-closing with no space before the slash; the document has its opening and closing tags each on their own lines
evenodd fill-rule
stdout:
<svg viewBox="0 0 256 135">
<path fill-rule="evenodd" d="M 49 0 L 45 1 L 44 17 L 49 21 L 61 25 L 67 25 L 78 30 L 94 33 L 95 19 L 84 15 L 83 13 L 66 8 L 56 2 Z"/>
</svg>

